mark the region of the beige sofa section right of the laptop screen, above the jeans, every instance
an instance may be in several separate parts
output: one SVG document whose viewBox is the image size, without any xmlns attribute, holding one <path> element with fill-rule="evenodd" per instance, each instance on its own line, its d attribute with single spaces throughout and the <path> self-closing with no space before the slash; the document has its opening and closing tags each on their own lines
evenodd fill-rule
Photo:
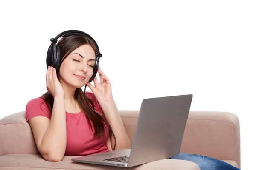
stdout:
<svg viewBox="0 0 256 170">
<path fill-rule="evenodd" d="M 190 111 L 180 152 L 236 161 L 240 167 L 240 125 L 228 112 Z"/>
</svg>

